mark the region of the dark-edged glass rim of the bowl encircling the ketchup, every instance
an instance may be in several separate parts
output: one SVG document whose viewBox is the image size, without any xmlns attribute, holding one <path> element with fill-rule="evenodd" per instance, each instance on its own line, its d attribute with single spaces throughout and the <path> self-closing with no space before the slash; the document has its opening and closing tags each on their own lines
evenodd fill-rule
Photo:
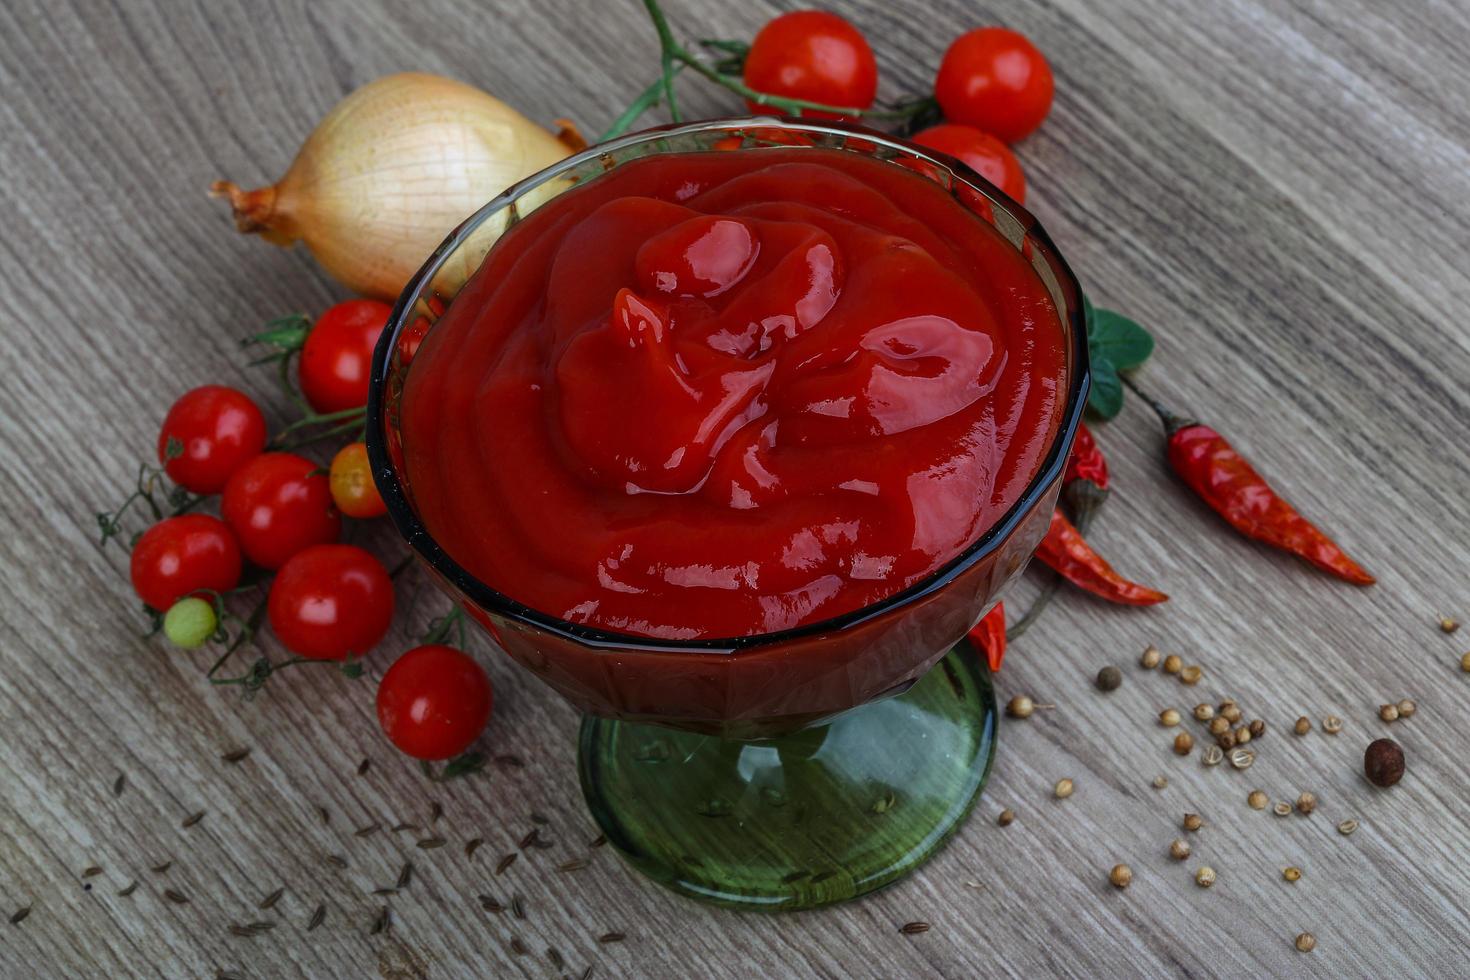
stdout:
<svg viewBox="0 0 1470 980">
<path fill-rule="evenodd" d="M 1033 250 L 1044 256 L 1047 264 L 1051 266 L 1051 270 L 1057 278 L 1057 284 L 1063 291 L 1063 295 L 1070 301 L 1069 309 L 1061 310 L 1061 314 L 1063 319 L 1069 320 L 1072 326 L 1072 373 L 1067 379 L 1067 400 L 1063 407 L 1063 417 L 1057 426 L 1055 435 L 1053 436 L 1051 447 L 1044 457 L 1042 464 L 1038 467 L 1036 473 L 1032 476 L 1026 489 L 1016 500 L 1016 502 L 1011 504 L 1011 507 L 994 525 L 980 532 L 980 535 L 966 545 L 957 555 L 913 585 L 841 616 L 769 633 L 750 633 L 745 636 L 709 639 L 666 639 L 659 636 L 639 636 L 637 633 L 619 633 L 616 630 L 572 623 L 559 616 L 532 608 L 525 602 L 519 602 L 491 588 L 485 582 L 481 582 L 463 566 L 454 561 L 454 558 L 451 558 L 442 547 L 440 547 L 410 505 L 398 469 L 394 466 L 392 458 L 388 454 L 385 391 L 388 386 L 388 369 L 392 363 L 392 354 L 398 347 L 398 336 L 415 319 L 415 303 L 429 289 L 434 278 L 438 275 L 448 257 L 462 244 L 465 244 L 465 241 L 467 241 L 485 220 L 523 197 L 526 192 L 559 178 L 566 170 L 579 167 L 591 160 L 598 160 L 609 153 L 628 147 L 637 147 L 644 143 L 656 143 L 670 137 L 710 131 L 729 131 L 731 135 L 736 135 L 748 129 L 775 129 L 792 134 L 820 134 L 828 137 L 856 137 L 857 141 L 861 143 L 870 143 L 888 150 L 897 150 L 908 157 L 917 157 L 926 163 L 942 167 L 950 173 L 951 179 L 969 185 L 982 194 L 992 207 L 1005 210 L 1010 217 L 1020 225 L 1023 238 L 1032 244 Z M 838 150 L 845 151 L 841 148 Z M 1016 530 L 1022 520 L 1042 500 L 1051 485 L 1061 476 L 1066 467 L 1067 453 L 1070 453 L 1072 448 L 1072 441 L 1082 422 L 1082 411 L 1086 406 L 1086 397 L 1091 386 L 1091 366 L 1088 361 L 1086 317 L 1083 306 L 1082 285 L 1078 282 L 1078 278 L 1073 275 L 1070 266 L 1067 266 L 1066 260 L 1057 251 L 1051 238 L 1047 235 L 1045 229 L 1042 229 L 1036 217 L 1007 197 L 994 184 L 948 154 L 916 145 L 900 137 L 869 129 L 867 126 L 841 120 L 813 122 L 784 116 L 739 116 L 728 119 L 707 119 L 694 123 L 654 126 L 651 129 L 641 129 L 607 143 L 591 145 L 581 153 L 575 153 L 563 160 L 559 160 L 550 167 L 513 184 L 467 219 L 460 222 L 460 225 L 448 234 L 438 248 L 434 250 L 429 259 L 423 263 L 419 272 L 415 273 L 415 276 L 404 287 L 403 292 L 398 295 L 392 307 L 392 314 L 388 317 L 388 325 L 384 328 L 382 335 L 378 338 L 378 345 L 373 350 L 366 416 L 368 457 L 372 464 L 373 482 L 378 485 L 378 492 L 382 495 L 382 500 L 388 507 L 388 514 L 398 533 L 404 538 L 409 547 L 423 561 L 426 561 L 434 572 L 453 585 L 463 598 L 488 613 L 498 614 L 504 619 L 535 627 L 538 630 L 556 633 L 582 646 L 597 649 L 735 654 L 753 648 L 766 648 L 820 633 L 848 630 L 906 605 L 911 605 L 933 592 L 944 589 L 966 570 L 989 557 L 1004 541 L 1010 538 L 1011 532 Z"/>
</svg>

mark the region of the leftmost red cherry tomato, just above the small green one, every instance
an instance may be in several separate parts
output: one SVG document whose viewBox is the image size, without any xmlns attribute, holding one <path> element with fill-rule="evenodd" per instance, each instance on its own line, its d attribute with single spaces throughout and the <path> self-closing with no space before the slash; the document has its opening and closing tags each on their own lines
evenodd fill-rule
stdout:
<svg viewBox="0 0 1470 980">
<path fill-rule="evenodd" d="M 138 598 L 163 613 L 185 595 L 240 585 L 240 544 L 219 517 L 168 517 L 132 547 L 129 576 Z"/>
</svg>

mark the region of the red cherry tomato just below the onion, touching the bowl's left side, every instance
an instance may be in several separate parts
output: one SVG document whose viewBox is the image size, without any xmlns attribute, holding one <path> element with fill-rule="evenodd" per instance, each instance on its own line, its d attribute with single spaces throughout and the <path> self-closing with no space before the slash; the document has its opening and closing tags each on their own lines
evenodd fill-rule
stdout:
<svg viewBox="0 0 1470 980">
<path fill-rule="evenodd" d="M 368 404 L 372 348 L 392 307 L 376 300 L 348 300 L 323 313 L 301 347 L 301 394 L 322 413 Z"/>
</svg>

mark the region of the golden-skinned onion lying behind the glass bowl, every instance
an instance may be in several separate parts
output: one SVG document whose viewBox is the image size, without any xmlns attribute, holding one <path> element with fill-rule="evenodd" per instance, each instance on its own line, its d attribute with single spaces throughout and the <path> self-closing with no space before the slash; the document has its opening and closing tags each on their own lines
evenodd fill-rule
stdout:
<svg viewBox="0 0 1470 980">
<path fill-rule="evenodd" d="M 276 184 L 210 191 L 241 232 L 301 241 L 348 289 L 394 300 L 456 225 L 567 150 L 472 85 L 406 72 L 340 101 Z"/>
</svg>

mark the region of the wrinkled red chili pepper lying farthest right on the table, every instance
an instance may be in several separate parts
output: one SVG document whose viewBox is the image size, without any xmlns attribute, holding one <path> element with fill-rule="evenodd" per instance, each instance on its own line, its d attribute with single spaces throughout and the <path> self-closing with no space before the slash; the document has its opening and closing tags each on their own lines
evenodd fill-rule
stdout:
<svg viewBox="0 0 1470 980">
<path fill-rule="evenodd" d="M 1169 429 L 1169 464 L 1232 527 L 1345 582 L 1373 585 L 1373 576 L 1282 500 L 1223 435 L 1198 422 L 1160 414 Z"/>
</svg>

